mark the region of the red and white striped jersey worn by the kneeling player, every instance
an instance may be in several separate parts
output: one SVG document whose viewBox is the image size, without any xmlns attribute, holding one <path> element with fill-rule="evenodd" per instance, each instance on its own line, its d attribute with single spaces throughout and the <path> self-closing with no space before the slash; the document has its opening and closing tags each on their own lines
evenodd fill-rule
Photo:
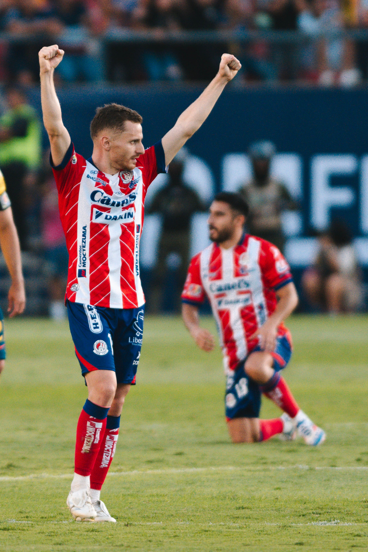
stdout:
<svg viewBox="0 0 368 552">
<path fill-rule="evenodd" d="M 255 236 L 245 235 L 227 250 L 212 243 L 191 259 L 182 300 L 200 305 L 207 295 L 226 372 L 257 346 L 250 337 L 274 312 L 275 291 L 289 282 L 290 267 L 278 248 Z M 281 324 L 279 335 L 287 332 Z"/>
</svg>

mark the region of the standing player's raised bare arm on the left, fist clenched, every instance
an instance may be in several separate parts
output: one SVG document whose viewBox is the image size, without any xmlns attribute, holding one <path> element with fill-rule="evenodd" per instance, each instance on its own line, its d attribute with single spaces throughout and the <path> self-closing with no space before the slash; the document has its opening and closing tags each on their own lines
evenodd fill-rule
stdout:
<svg viewBox="0 0 368 552">
<path fill-rule="evenodd" d="M 71 142 L 69 132 L 62 122 L 60 103 L 54 85 L 54 71 L 63 55 L 64 51 L 60 50 L 57 44 L 44 46 L 39 51 L 42 115 L 55 166 L 62 162 Z"/>
</svg>

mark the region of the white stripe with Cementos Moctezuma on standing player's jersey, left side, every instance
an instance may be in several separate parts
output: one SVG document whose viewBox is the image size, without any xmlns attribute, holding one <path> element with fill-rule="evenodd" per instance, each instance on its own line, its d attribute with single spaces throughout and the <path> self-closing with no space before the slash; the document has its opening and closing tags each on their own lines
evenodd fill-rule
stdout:
<svg viewBox="0 0 368 552">
<path fill-rule="evenodd" d="M 80 268 L 86 268 L 86 278 L 78 278 L 78 284 L 79 289 L 76 293 L 76 302 L 77 303 L 84 303 L 89 304 L 89 230 L 90 230 L 90 187 L 91 185 L 88 185 L 89 182 L 87 180 L 87 174 L 88 171 L 90 171 L 90 168 L 92 165 L 87 162 L 86 169 L 82 175 L 81 178 L 81 185 L 79 186 L 79 196 L 78 196 L 78 230 L 77 230 L 77 266 L 76 266 L 76 275 L 78 277 L 78 269 Z M 94 182 L 90 181 L 92 183 L 92 188 L 94 187 Z M 85 227 L 85 228 L 83 228 Z M 83 239 L 83 233 L 86 233 L 86 267 L 83 266 L 80 262 L 81 255 L 83 254 L 83 245 L 84 245 L 84 239 Z"/>
</svg>

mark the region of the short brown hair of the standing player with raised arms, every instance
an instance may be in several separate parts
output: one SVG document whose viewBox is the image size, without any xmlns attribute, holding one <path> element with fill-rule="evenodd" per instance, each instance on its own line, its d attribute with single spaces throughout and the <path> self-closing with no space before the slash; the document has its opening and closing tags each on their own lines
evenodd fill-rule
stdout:
<svg viewBox="0 0 368 552">
<path fill-rule="evenodd" d="M 104 129 L 123 132 L 125 121 L 142 123 L 142 120 L 139 113 L 125 105 L 105 104 L 104 107 L 96 109 L 96 114 L 90 123 L 90 137 L 93 140 Z"/>
</svg>

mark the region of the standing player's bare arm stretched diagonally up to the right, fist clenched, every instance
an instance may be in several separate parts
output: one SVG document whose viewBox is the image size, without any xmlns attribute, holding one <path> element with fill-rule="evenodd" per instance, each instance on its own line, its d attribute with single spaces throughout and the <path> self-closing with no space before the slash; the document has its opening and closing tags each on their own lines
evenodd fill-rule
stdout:
<svg viewBox="0 0 368 552">
<path fill-rule="evenodd" d="M 226 84 L 241 68 L 241 63 L 231 54 L 222 54 L 216 77 L 199 98 L 180 115 L 177 123 L 162 139 L 165 162 L 168 165 L 187 140 L 200 128 L 212 111 Z"/>
</svg>

